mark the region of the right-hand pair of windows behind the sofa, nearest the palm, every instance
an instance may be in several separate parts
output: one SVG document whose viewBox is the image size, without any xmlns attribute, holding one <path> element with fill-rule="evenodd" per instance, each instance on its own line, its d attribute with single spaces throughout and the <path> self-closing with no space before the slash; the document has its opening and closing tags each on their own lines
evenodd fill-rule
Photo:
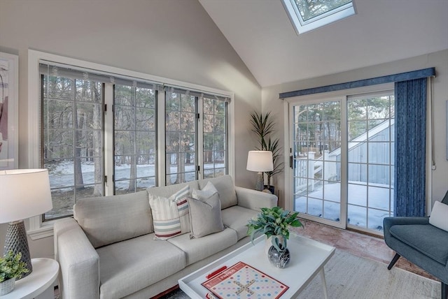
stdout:
<svg viewBox="0 0 448 299">
<path fill-rule="evenodd" d="M 228 99 L 169 89 L 165 126 L 167 184 L 228 173 Z"/>
</svg>

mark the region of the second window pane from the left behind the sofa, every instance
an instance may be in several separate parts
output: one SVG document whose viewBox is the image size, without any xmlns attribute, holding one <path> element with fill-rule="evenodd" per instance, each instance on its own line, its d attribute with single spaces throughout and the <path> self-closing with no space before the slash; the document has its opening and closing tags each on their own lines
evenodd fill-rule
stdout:
<svg viewBox="0 0 448 299">
<path fill-rule="evenodd" d="M 154 89 L 115 85 L 115 192 L 155 186 Z"/>
</svg>

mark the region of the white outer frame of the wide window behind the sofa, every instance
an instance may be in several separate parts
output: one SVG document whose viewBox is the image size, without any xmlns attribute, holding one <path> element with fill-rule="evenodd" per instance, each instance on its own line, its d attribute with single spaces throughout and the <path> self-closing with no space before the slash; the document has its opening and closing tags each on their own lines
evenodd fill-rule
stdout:
<svg viewBox="0 0 448 299">
<path fill-rule="evenodd" d="M 153 82 L 160 82 L 160 84 L 181 87 L 183 89 L 192 89 L 206 94 L 220 94 L 230 98 L 228 105 L 228 174 L 235 177 L 235 93 L 228 92 L 221 89 L 205 87 L 193 83 L 182 82 L 179 80 L 172 80 L 169 78 L 162 78 L 155 75 L 148 75 L 146 73 L 139 73 L 136 71 L 126 70 L 124 68 L 116 68 L 113 66 L 106 66 L 103 64 L 96 64 L 80 59 L 73 59 L 63 57 L 46 52 L 28 50 L 28 161 L 27 168 L 41 167 L 41 97 L 40 85 L 41 79 L 39 75 L 39 63 L 41 60 L 52 61 L 57 64 L 67 64 L 68 66 L 78 66 L 80 68 L 90 68 L 95 71 L 120 74 L 132 78 L 140 78 L 143 80 L 150 80 Z M 165 101 L 165 96 L 162 92 L 159 93 L 158 101 Z M 159 105 L 158 110 L 158 125 L 162 124 L 161 128 L 165 128 L 165 109 L 160 109 L 164 105 Z M 107 130 L 107 128 L 106 128 Z M 163 130 L 162 130 L 163 131 Z M 161 132 L 161 131 L 160 131 Z M 106 133 L 106 132 L 105 132 Z M 158 148 L 165 149 L 165 136 L 158 134 Z M 158 151 L 158 163 L 165 165 L 165 150 Z M 105 153 L 107 154 L 107 153 Z M 159 171 L 161 171 L 159 167 Z M 158 173 L 159 186 L 165 185 L 165 175 Z M 28 235 L 31 240 L 46 238 L 53 235 L 53 224 L 55 220 L 42 222 L 41 215 L 29 218 Z"/>
</svg>

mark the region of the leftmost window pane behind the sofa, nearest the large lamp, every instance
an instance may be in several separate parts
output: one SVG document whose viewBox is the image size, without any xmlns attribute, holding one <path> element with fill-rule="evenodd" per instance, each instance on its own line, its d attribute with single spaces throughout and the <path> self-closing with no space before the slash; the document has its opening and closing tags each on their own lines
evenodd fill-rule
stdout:
<svg viewBox="0 0 448 299">
<path fill-rule="evenodd" d="M 73 214 L 78 198 L 104 195 L 102 86 L 43 75 L 43 167 L 53 209 L 44 220 Z"/>
</svg>

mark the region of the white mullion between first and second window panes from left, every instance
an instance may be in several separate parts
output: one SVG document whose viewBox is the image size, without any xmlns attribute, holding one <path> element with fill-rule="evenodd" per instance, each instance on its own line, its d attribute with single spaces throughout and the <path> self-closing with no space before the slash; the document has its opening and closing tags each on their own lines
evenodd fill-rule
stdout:
<svg viewBox="0 0 448 299">
<path fill-rule="evenodd" d="M 107 110 L 106 110 L 107 107 Z M 113 195 L 113 84 L 104 83 L 104 175 L 107 177 L 104 191 Z"/>
</svg>

